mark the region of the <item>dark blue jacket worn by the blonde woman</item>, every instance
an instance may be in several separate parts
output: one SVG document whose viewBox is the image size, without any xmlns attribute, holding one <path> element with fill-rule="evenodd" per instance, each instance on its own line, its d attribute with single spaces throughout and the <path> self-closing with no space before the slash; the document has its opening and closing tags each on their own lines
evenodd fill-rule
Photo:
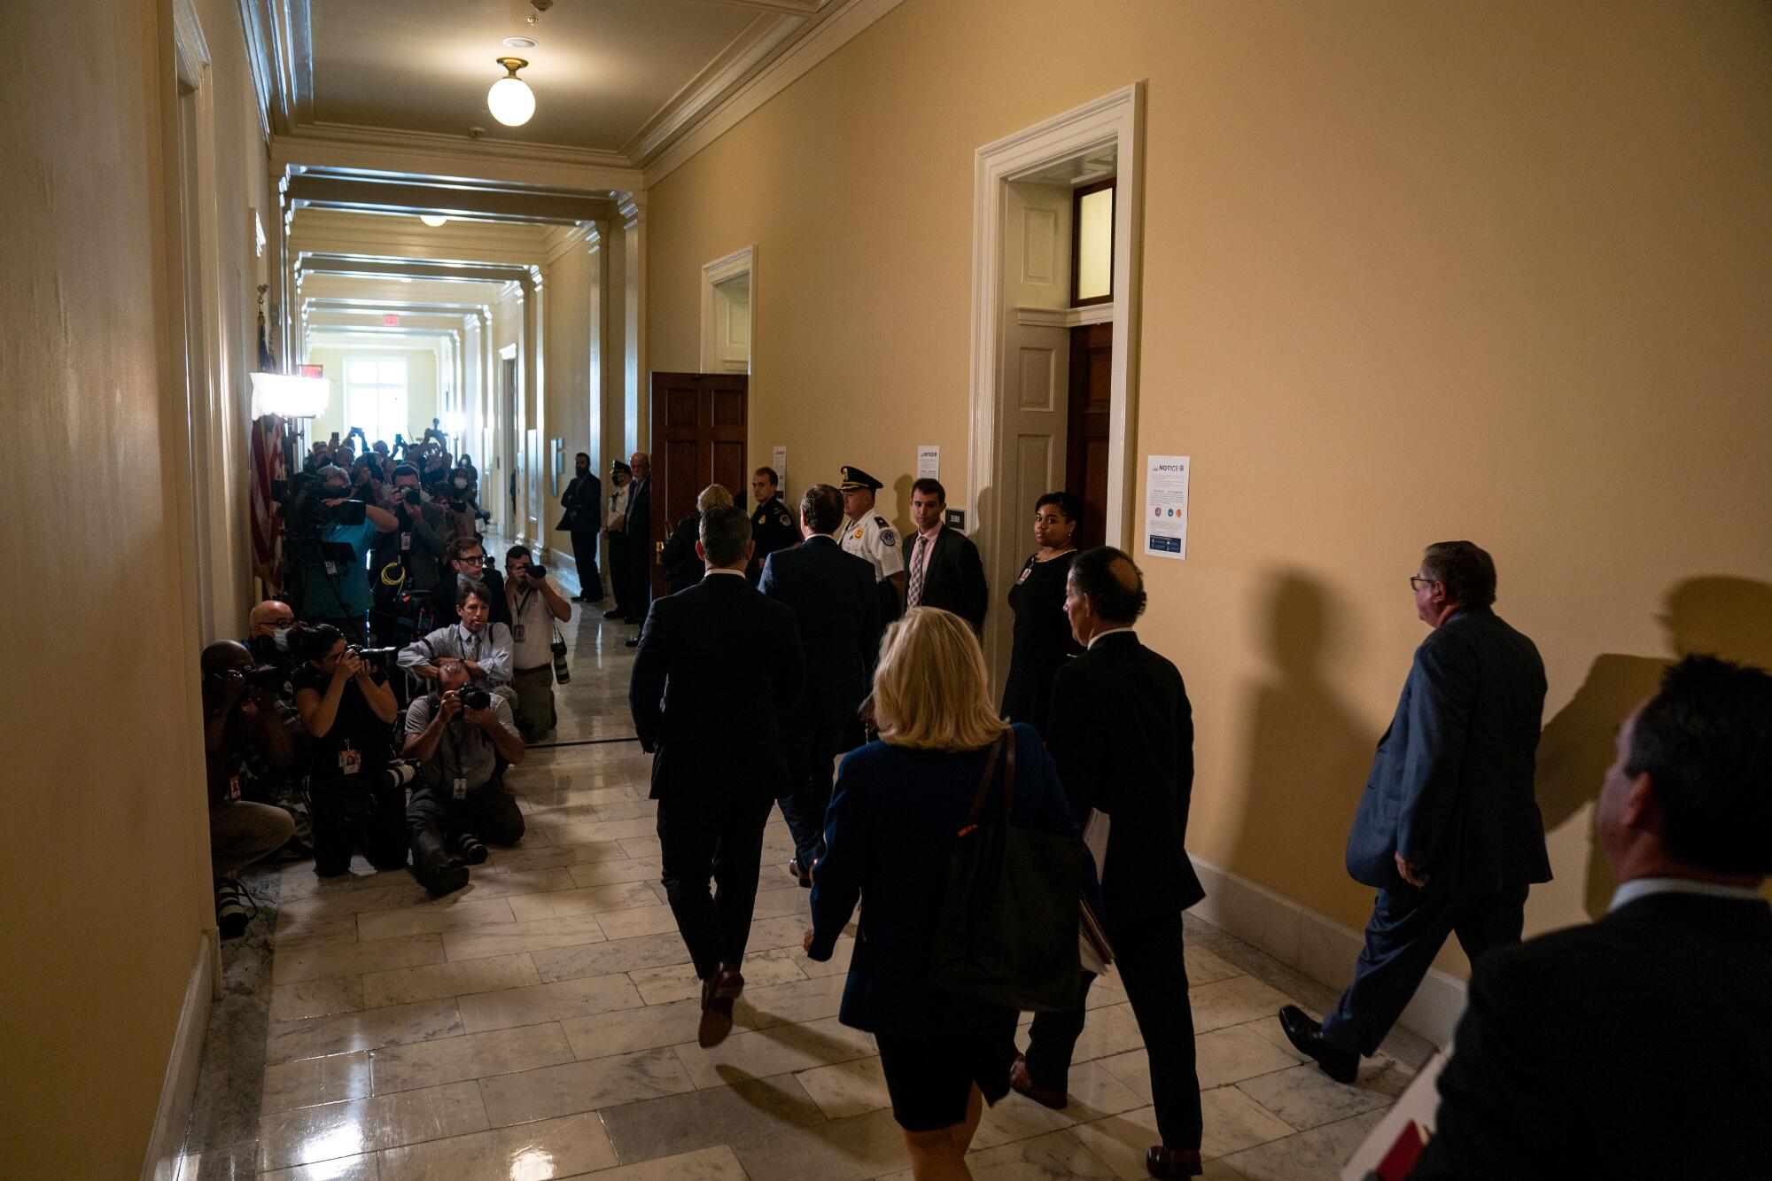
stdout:
<svg viewBox="0 0 1772 1181">
<path fill-rule="evenodd" d="M 1015 743 L 1015 796 L 1010 823 L 1074 833 L 1076 821 L 1058 787 L 1053 761 L 1031 725 L 1010 731 Z M 874 1034 L 939 1036 L 969 1032 L 980 1004 L 929 986 L 936 920 L 948 862 L 966 823 L 989 747 L 913 750 L 868 743 L 843 759 L 826 812 L 828 851 L 812 883 L 812 959 L 829 959 L 836 936 L 861 901 L 838 1020 Z M 1003 759 L 983 817 L 1003 814 Z M 1079 888 L 1093 892 L 1083 858 Z"/>
</svg>

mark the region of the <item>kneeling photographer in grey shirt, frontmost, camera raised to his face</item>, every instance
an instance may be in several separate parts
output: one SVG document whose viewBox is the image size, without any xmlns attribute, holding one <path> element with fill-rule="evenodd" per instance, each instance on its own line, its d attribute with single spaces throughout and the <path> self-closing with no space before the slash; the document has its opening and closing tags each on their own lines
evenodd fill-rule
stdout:
<svg viewBox="0 0 1772 1181">
<path fill-rule="evenodd" d="M 496 761 L 523 763 L 523 739 L 510 706 L 468 683 L 457 658 L 438 661 L 438 690 L 406 709 L 406 757 L 424 764 L 406 828 L 413 876 L 443 896 L 468 885 L 468 865 L 486 860 L 486 846 L 523 839 L 523 812 L 505 791 Z"/>
</svg>

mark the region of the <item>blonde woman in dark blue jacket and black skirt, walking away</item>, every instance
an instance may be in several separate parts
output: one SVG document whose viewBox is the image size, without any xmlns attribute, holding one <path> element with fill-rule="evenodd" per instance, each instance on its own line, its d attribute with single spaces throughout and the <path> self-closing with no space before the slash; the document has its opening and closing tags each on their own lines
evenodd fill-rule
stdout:
<svg viewBox="0 0 1772 1181">
<path fill-rule="evenodd" d="M 1001 784 L 1014 773 L 1012 825 L 1077 826 L 1038 732 L 998 718 L 978 638 L 959 615 L 916 606 L 891 624 L 874 716 L 879 741 L 843 759 L 826 812 L 806 954 L 829 959 L 861 903 L 838 1020 L 879 1043 L 918 1181 L 969 1177 L 966 1149 L 983 1103 L 1008 1092 L 1019 1014 L 929 984 L 948 862 L 987 764 L 985 814 L 1001 814 Z"/>
</svg>

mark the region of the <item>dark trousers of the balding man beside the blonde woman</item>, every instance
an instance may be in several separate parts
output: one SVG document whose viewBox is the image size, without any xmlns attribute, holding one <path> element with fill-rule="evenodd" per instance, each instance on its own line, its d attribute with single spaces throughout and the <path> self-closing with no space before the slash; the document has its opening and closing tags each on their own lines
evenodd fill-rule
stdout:
<svg viewBox="0 0 1772 1181">
<path fill-rule="evenodd" d="M 1182 915 L 1159 915 L 1109 927 L 1115 970 L 1132 1002 L 1138 1032 L 1150 1055 L 1150 1096 L 1162 1146 L 1200 1147 L 1200 1076 L 1194 1073 L 1194 1011 L 1187 1004 Z M 1070 1055 L 1083 1034 L 1084 1004 L 1095 977 L 1083 974 L 1083 997 L 1067 1013 L 1037 1013 L 1028 1030 L 1028 1076 L 1040 1087 L 1069 1091 Z"/>
</svg>

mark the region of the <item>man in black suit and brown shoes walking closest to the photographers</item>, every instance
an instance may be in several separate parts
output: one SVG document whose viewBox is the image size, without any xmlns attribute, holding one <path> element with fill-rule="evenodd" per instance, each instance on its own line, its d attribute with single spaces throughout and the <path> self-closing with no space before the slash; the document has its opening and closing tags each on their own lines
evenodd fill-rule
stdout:
<svg viewBox="0 0 1772 1181">
<path fill-rule="evenodd" d="M 764 823 L 787 784 L 781 715 L 799 702 L 804 665 L 794 612 L 744 580 L 744 509 L 703 512 L 696 551 L 707 578 L 652 603 L 627 704 L 652 754 L 664 892 L 702 977 L 698 1037 L 712 1046 L 744 989 Z"/>
</svg>

